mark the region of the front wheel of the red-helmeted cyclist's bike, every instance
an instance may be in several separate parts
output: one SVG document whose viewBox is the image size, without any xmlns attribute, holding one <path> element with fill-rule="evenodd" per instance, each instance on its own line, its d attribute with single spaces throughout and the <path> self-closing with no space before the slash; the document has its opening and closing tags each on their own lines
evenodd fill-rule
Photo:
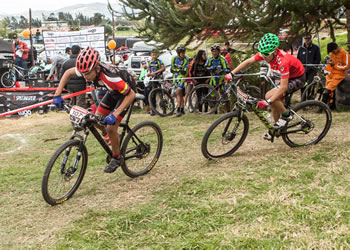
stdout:
<svg viewBox="0 0 350 250">
<path fill-rule="evenodd" d="M 72 197 L 82 182 L 88 161 L 85 145 L 70 140 L 60 146 L 46 166 L 41 193 L 44 200 L 54 206 Z"/>
</svg>

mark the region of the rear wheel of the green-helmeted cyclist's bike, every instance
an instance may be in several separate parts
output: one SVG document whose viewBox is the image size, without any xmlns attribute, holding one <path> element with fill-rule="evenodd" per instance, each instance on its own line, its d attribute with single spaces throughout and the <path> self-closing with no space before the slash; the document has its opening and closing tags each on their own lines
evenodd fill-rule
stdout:
<svg viewBox="0 0 350 250">
<path fill-rule="evenodd" d="M 320 101 L 305 101 L 293 111 L 293 120 L 281 131 L 283 141 L 290 147 L 316 144 L 328 133 L 332 124 L 329 107 Z"/>
</svg>

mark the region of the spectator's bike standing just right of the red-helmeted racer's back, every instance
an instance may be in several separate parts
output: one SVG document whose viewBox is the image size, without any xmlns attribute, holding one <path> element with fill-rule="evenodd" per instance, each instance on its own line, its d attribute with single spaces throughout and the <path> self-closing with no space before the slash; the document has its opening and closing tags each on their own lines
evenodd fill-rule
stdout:
<svg viewBox="0 0 350 250">
<path fill-rule="evenodd" d="M 159 84 L 149 93 L 148 102 L 153 110 L 159 116 L 170 116 L 176 109 L 176 90 L 175 85 L 170 81 Z"/>
</svg>

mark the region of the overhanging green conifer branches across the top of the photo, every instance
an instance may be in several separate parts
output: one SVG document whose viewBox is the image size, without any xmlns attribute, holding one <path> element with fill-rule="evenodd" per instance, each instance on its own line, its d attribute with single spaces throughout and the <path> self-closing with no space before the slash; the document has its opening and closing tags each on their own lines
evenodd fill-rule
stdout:
<svg viewBox="0 0 350 250">
<path fill-rule="evenodd" d="M 164 47 L 185 41 L 203 41 L 214 33 L 225 40 L 257 40 L 264 33 L 288 28 L 293 37 L 320 29 L 324 19 L 335 22 L 349 0 L 121 0 L 123 15 L 143 21 L 137 30 Z M 130 12 L 128 8 L 133 11 Z M 176 34 L 176 35 L 174 35 Z"/>
</svg>

